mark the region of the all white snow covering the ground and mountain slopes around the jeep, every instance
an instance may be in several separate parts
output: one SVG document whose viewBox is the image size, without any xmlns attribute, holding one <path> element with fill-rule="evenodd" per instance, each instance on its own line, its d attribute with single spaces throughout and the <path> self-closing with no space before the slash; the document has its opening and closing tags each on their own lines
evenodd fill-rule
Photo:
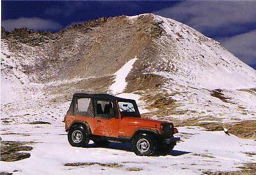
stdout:
<svg viewBox="0 0 256 175">
<path fill-rule="evenodd" d="M 129 19 L 134 22 L 137 17 L 131 16 Z M 171 118 L 184 120 L 201 117 L 203 122 L 224 124 L 255 120 L 256 94 L 254 90 L 248 90 L 256 87 L 255 70 L 195 29 L 161 16 L 155 16 L 155 19 L 163 21 L 166 34 L 154 41 L 160 48 L 159 55 L 155 57 L 155 62 L 150 63 L 147 74 L 160 75 L 164 85 L 159 91 L 150 92 L 150 95 L 170 94 L 170 98 L 177 101 L 177 111 L 186 111 L 182 115 L 166 115 L 161 119 L 170 121 Z M 37 54 L 28 57 L 25 52 L 26 49 L 37 52 L 37 49 L 24 44 L 21 46 L 22 51 L 14 54 L 8 50 L 7 41 L 1 41 L 1 121 L 11 121 L 11 124 L 1 125 L 1 137 L 3 140 L 36 143 L 33 144 L 29 159 L 11 163 L 0 161 L 0 171 L 18 170 L 14 174 L 52 174 L 53 171 L 55 174 L 202 174 L 203 170 L 234 171 L 242 163 L 256 161 L 255 156 L 248 157 L 243 153 L 255 153 L 255 141 L 226 136 L 224 131 L 210 132 L 198 127 L 180 127 L 182 142 L 167 156 L 138 157 L 125 150 L 125 144 L 112 144 L 114 148 L 96 148 L 93 145 L 90 148 L 71 147 L 61 122 L 70 101 L 49 103 L 56 100 L 56 95 L 45 91 L 45 88 L 63 85 L 62 91 L 65 85 L 86 79 L 75 77 L 45 84 L 33 81 L 33 76 L 24 74 L 21 65 L 35 65 L 38 57 L 33 55 Z M 129 60 L 115 72 L 109 93 L 134 99 L 143 114 L 150 112 L 146 109 L 148 104 L 142 100 L 147 93 L 124 93 L 128 83 L 126 77 L 136 60 L 136 57 Z M 210 95 L 210 90 L 217 88 L 222 88 L 223 95 L 231 103 Z M 238 90 L 241 88 L 247 90 Z M 58 95 L 67 95 L 64 93 Z M 30 121 L 48 121 L 51 125 L 22 124 Z M 205 154 L 214 158 L 203 157 Z M 64 163 L 78 161 L 119 163 L 124 167 L 63 166 Z M 131 167 L 142 170 L 127 171 Z"/>
</svg>

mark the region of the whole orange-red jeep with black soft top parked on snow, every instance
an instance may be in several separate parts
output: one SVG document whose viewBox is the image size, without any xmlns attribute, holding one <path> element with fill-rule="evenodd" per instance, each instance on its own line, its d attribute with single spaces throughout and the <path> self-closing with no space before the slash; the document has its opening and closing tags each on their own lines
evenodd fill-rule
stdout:
<svg viewBox="0 0 256 175">
<path fill-rule="evenodd" d="M 180 140 L 173 123 L 141 118 L 135 100 L 109 94 L 74 94 L 64 122 L 74 147 L 115 141 L 129 144 L 138 156 L 155 156 L 170 153 Z"/>
</svg>

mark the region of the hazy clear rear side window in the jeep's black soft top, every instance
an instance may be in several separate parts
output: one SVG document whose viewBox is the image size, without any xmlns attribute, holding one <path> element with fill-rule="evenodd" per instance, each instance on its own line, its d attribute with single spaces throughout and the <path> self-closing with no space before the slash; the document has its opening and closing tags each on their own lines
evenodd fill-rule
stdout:
<svg viewBox="0 0 256 175">
<path fill-rule="evenodd" d="M 92 103 L 90 98 L 77 98 L 74 107 L 75 113 L 80 115 L 93 116 Z"/>
</svg>

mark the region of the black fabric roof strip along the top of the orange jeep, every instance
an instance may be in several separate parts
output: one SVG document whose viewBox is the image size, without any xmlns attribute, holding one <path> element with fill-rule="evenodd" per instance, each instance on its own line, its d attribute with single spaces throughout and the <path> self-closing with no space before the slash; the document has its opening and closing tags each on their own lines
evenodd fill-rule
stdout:
<svg viewBox="0 0 256 175">
<path fill-rule="evenodd" d="M 120 98 L 110 94 L 85 94 L 85 93 L 76 93 L 73 95 L 74 97 L 88 97 L 88 98 L 101 98 L 101 99 L 108 99 L 108 100 L 118 100 L 118 101 L 132 101 L 135 100 L 127 99 L 127 98 Z"/>
</svg>

